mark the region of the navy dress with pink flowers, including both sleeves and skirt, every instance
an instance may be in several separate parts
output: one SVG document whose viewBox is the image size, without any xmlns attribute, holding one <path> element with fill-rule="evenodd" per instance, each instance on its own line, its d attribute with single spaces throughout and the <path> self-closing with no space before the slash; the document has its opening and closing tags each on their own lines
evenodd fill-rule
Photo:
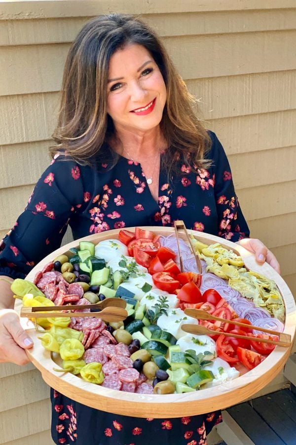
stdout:
<svg viewBox="0 0 296 445">
<path fill-rule="evenodd" d="M 114 228 L 173 226 L 175 220 L 231 241 L 249 236 L 226 155 L 216 135 L 209 134 L 212 166 L 196 174 L 180 162 L 180 175 L 169 181 L 161 170 L 158 203 L 139 163 L 119 157 L 109 170 L 108 163 L 81 166 L 67 156 L 56 157 L 39 179 L 25 211 L 0 242 L 0 274 L 24 278 L 60 246 L 68 224 L 74 239 Z M 201 445 L 221 421 L 220 412 L 176 419 L 114 415 L 54 390 L 51 399 L 56 444 Z"/>
</svg>

